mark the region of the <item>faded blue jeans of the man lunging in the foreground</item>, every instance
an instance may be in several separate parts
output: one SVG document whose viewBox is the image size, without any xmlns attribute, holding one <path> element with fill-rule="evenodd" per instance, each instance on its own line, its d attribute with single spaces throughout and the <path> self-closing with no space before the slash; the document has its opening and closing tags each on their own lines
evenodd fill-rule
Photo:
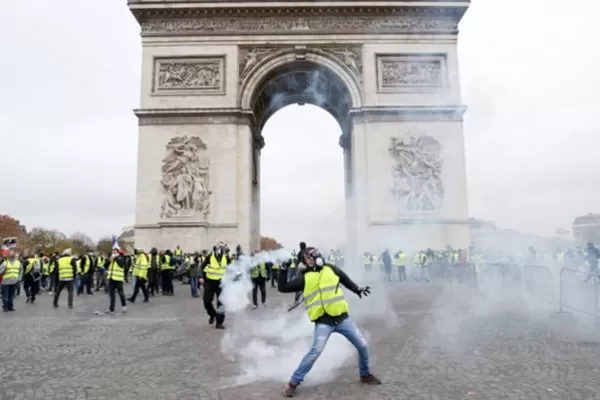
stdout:
<svg viewBox="0 0 600 400">
<path fill-rule="evenodd" d="M 290 383 L 298 385 L 302 383 L 306 374 L 310 372 L 313 365 L 325 349 L 327 340 L 333 332 L 337 332 L 350 341 L 358 350 L 358 370 L 360 376 L 369 375 L 369 351 L 367 349 L 367 341 L 358 329 L 358 326 L 350 319 L 346 318 L 339 325 L 315 324 L 313 334 L 313 344 L 308 353 L 304 356 L 300 365 L 294 371 Z"/>
</svg>

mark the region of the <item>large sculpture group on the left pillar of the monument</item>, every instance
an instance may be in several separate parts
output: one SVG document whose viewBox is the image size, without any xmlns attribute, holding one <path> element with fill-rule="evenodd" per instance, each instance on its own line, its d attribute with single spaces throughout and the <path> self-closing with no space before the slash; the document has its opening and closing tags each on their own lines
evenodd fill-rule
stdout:
<svg viewBox="0 0 600 400">
<path fill-rule="evenodd" d="M 210 160 L 199 137 L 179 136 L 166 146 L 161 184 L 164 200 L 161 218 L 210 213 Z"/>
</svg>

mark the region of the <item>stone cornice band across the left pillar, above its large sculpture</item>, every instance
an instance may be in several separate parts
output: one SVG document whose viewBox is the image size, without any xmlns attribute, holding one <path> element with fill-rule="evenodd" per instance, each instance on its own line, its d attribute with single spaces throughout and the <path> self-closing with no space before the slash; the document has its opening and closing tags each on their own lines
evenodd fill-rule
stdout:
<svg viewBox="0 0 600 400">
<path fill-rule="evenodd" d="M 239 108 L 136 109 L 139 125 L 254 124 L 254 114 Z"/>
</svg>

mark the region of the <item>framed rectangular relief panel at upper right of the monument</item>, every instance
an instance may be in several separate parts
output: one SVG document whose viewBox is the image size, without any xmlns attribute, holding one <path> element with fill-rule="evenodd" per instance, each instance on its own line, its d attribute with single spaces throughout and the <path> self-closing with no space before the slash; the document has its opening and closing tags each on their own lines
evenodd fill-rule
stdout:
<svg viewBox="0 0 600 400">
<path fill-rule="evenodd" d="M 448 86 L 446 54 L 376 54 L 379 93 L 440 92 Z"/>
</svg>

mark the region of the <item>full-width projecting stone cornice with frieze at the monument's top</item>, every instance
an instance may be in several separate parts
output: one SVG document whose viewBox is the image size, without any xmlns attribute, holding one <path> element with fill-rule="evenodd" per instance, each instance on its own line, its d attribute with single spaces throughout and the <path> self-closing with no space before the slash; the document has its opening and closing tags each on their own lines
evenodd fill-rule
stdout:
<svg viewBox="0 0 600 400">
<path fill-rule="evenodd" d="M 456 34 L 468 4 L 135 8 L 142 36 Z"/>
</svg>

